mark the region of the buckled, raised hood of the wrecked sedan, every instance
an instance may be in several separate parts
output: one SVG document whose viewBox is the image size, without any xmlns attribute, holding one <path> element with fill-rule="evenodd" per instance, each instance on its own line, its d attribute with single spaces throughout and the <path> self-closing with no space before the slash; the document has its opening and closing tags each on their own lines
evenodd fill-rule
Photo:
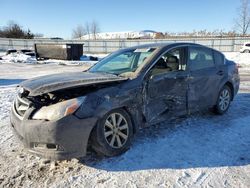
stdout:
<svg viewBox="0 0 250 188">
<path fill-rule="evenodd" d="M 37 96 L 62 89 L 122 80 L 127 80 L 127 78 L 106 73 L 72 72 L 29 79 L 20 83 L 19 87 L 28 90 L 29 96 Z"/>
</svg>

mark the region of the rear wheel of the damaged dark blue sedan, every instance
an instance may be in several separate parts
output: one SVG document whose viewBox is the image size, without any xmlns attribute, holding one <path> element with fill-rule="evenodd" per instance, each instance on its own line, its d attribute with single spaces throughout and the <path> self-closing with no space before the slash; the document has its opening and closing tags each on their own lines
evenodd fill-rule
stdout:
<svg viewBox="0 0 250 188">
<path fill-rule="evenodd" d="M 219 96 L 215 105 L 215 113 L 219 115 L 224 114 L 230 107 L 231 99 L 232 91 L 230 87 L 227 85 L 223 86 L 219 92 Z"/>
</svg>

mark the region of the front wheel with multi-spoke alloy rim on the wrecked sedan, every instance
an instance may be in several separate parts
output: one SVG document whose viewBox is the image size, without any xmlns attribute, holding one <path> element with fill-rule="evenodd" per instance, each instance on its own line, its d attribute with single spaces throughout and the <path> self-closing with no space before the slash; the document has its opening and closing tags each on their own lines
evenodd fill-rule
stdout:
<svg viewBox="0 0 250 188">
<path fill-rule="evenodd" d="M 98 121 L 91 144 L 98 154 L 112 157 L 127 151 L 132 137 L 133 125 L 129 114 L 123 109 L 115 109 Z"/>
</svg>

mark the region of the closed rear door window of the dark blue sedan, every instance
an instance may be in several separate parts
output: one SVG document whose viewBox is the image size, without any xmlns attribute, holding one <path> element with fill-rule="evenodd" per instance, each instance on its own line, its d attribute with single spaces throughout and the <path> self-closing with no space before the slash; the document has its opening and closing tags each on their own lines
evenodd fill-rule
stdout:
<svg viewBox="0 0 250 188">
<path fill-rule="evenodd" d="M 214 57 L 209 48 L 189 47 L 188 64 L 190 70 L 214 67 Z"/>
</svg>

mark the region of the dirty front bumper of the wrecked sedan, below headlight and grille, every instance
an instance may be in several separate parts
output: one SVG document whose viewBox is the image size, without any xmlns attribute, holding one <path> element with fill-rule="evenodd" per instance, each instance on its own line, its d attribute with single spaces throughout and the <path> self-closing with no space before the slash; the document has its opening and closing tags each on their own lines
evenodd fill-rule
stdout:
<svg viewBox="0 0 250 188">
<path fill-rule="evenodd" d="M 96 118 L 79 119 L 74 115 L 57 121 L 19 119 L 11 110 L 11 126 L 29 152 L 63 160 L 87 153 L 88 140 Z"/>
</svg>

